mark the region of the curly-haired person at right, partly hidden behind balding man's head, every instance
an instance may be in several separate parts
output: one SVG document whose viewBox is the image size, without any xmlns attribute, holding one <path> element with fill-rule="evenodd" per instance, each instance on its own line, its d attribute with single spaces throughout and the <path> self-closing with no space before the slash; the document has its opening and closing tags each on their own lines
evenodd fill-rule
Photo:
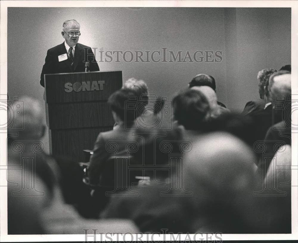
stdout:
<svg viewBox="0 0 298 243">
<path fill-rule="evenodd" d="M 272 73 L 277 72 L 274 68 L 265 68 L 262 69 L 258 75 L 257 80 L 259 81 L 259 95 L 260 99 L 256 101 L 249 101 L 246 103 L 242 114 L 248 115 L 254 112 L 258 112 L 264 109 L 265 107 L 265 90 L 264 88 L 268 86 L 269 77 Z"/>
</svg>

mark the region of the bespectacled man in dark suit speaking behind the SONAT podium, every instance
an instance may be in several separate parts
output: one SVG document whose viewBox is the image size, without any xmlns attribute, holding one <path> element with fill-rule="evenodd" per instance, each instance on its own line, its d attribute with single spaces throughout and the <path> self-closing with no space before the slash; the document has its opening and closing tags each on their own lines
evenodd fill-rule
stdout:
<svg viewBox="0 0 298 243">
<path fill-rule="evenodd" d="M 84 72 L 86 62 L 90 64 L 89 71 L 99 71 L 92 49 L 77 43 L 81 33 L 80 24 L 76 20 L 66 20 L 61 34 L 65 41 L 46 53 L 40 76 L 40 84 L 43 87 L 44 74 Z"/>
</svg>

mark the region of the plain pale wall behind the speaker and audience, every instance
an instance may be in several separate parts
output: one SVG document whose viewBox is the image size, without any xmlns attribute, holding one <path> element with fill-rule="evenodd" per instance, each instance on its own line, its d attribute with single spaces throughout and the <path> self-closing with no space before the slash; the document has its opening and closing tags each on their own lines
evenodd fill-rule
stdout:
<svg viewBox="0 0 298 243">
<path fill-rule="evenodd" d="M 198 73 L 215 78 L 218 100 L 235 111 L 258 98 L 257 72 L 291 63 L 290 8 L 8 8 L 8 94 L 44 103 L 39 84 L 46 51 L 63 42 L 62 24 L 76 19 L 79 43 L 103 51 L 222 51 L 222 62 L 100 62 L 123 81 L 147 82 L 169 100 Z M 168 51 L 167 50 L 167 51 Z M 113 57 L 116 57 L 115 54 Z M 127 56 L 129 57 L 129 55 Z M 99 53 L 97 53 L 99 60 Z M 120 59 L 122 60 L 122 59 Z M 49 150 L 48 134 L 43 140 Z"/>
</svg>

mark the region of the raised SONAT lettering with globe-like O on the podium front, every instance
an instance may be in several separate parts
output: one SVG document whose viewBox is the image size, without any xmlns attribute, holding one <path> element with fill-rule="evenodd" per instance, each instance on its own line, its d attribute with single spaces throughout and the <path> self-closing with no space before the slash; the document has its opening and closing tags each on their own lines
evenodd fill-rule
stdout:
<svg viewBox="0 0 298 243">
<path fill-rule="evenodd" d="M 105 81 L 82 81 L 82 82 L 75 82 L 72 83 L 66 83 L 64 84 L 65 92 L 70 93 L 73 90 L 75 92 L 80 91 L 93 91 L 93 90 L 103 90 L 103 85 L 105 84 Z"/>
</svg>

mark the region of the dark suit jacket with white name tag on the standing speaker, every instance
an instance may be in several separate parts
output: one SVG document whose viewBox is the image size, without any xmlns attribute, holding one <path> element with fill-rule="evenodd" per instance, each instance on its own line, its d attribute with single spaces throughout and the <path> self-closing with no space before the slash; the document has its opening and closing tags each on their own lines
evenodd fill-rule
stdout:
<svg viewBox="0 0 298 243">
<path fill-rule="evenodd" d="M 64 42 L 47 51 L 45 63 L 40 76 L 40 84 L 43 87 L 44 74 L 85 72 L 85 62 L 87 61 L 90 62 L 89 71 L 99 71 L 99 67 L 91 47 L 82 45 L 80 43 L 76 44 L 73 67 L 71 66 L 69 59 L 59 62 L 58 56 L 66 53 L 67 51 Z"/>
</svg>

